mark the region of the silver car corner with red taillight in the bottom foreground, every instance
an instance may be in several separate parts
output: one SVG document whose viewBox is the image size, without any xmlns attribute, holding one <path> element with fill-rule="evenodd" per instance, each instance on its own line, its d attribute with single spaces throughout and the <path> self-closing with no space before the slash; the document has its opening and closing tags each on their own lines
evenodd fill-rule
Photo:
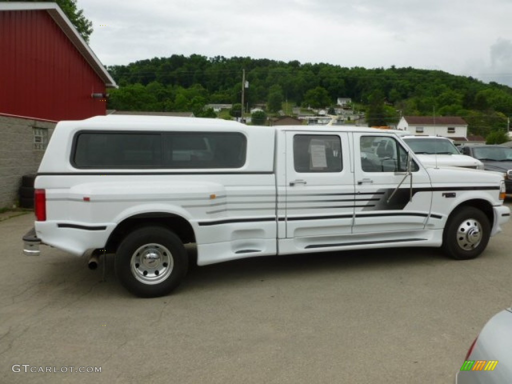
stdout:
<svg viewBox="0 0 512 384">
<path fill-rule="evenodd" d="M 482 328 L 456 374 L 456 384 L 504 384 L 512 377 L 512 309 L 494 315 Z"/>
</svg>

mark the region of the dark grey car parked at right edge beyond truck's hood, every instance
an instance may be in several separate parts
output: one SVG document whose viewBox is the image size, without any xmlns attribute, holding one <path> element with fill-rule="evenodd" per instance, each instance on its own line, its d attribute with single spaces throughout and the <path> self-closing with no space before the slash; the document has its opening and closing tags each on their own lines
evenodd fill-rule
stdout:
<svg viewBox="0 0 512 384">
<path fill-rule="evenodd" d="M 506 193 L 512 195 L 512 148 L 504 145 L 467 145 L 462 147 L 462 153 L 480 160 L 486 170 L 503 173 Z"/>
</svg>

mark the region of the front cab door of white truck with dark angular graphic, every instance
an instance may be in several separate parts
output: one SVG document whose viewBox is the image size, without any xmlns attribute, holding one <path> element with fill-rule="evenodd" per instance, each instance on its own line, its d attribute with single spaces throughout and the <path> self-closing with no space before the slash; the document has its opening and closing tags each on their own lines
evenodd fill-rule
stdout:
<svg viewBox="0 0 512 384">
<path fill-rule="evenodd" d="M 407 150 L 394 135 L 352 136 L 356 193 L 352 232 L 375 233 L 381 241 L 411 240 L 415 230 L 424 228 L 430 214 L 428 173 L 413 161 L 411 186 L 411 175 L 406 176 Z"/>
</svg>

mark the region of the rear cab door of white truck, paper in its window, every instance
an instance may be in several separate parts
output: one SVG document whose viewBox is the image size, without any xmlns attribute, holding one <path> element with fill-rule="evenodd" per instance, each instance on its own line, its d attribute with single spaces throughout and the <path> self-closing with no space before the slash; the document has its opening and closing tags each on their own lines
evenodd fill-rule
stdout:
<svg viewBox="0 0 512 384">
<path fill-rule="evenodd" d="M 285 188 L 286 238 L 298 242 L 295 251 L 350 233 L 354 174 L 348 134 L 286 132 Z"/>
</svg>

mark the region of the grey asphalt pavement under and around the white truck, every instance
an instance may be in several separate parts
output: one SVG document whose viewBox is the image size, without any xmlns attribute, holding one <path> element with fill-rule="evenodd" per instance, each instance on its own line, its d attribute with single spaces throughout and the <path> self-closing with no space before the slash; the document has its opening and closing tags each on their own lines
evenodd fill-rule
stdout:
<svg viewBox="0 0 512 384">
<path fill-rule="evenodd" d="M 23 255 L 32 220 L 0 221 L 3 384 L 451 383 L 512 304 L 510 222 L 476 260 L 417 248 L 246 259 L 141 299 L 112 255 L 95 271 L 49 247 Z"/>
</svg>

